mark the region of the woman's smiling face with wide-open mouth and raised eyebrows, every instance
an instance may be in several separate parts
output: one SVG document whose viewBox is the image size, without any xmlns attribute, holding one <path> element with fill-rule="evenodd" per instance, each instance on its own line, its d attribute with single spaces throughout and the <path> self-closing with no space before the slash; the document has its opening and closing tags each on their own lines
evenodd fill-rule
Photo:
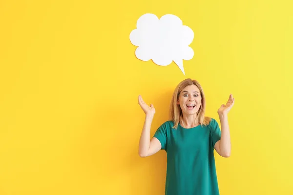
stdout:
<svg viewBox="0 0 293 195">
<path fill-rule="evenodd" d="M 201 106 L 201 95 L 196 85 L 188 85 L 180 92 L 177 100 L 182 113 L 186 115 L 196 114 Z"/>
</svg>

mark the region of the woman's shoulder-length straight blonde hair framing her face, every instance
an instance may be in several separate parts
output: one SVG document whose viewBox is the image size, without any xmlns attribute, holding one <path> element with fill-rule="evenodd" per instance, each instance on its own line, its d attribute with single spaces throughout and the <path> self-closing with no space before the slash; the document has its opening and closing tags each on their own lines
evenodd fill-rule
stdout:
<svg viewBox="0 0 293 195">
<path fill-rule="evenodd" d="M 177 129 L 179 122 L 182 122 L 182 110 L 180 108 L 180 105 L 177 104 L 177 101 L 179 99 L 178 96 L 180 92 L 188 85 L 197 86 L 200 91 L 200 96 L 202 98 L 201 106 L 199 110 L 197 111 L 197 117 L 196 117 L 197 122 L 201 126 L 203 125 L 206 126 L 211 121 L 210 117 L 205 117 L 206 100 L 205 100 L 205 94 L 203 92 L 201 85 L 196 80 L 191 80 L 190 78 L 187 78 L 181 81 L 173 92 L 173 97 L 172 97 L 171 105 L 170 105 L 170 117 L 171 117 L 171 120 L 174 122 L 174 126 L 173 126 L 174 129 Z"/>
</svg>

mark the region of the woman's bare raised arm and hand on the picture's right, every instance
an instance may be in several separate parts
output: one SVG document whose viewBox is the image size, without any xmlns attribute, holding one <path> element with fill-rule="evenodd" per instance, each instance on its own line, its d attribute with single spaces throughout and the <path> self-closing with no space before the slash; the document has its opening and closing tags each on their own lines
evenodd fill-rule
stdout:
<svg viewBox="0 0 293 195">
<path fill-rule="evenodd" d="M 233 95 L 230 94 L 226 105 L 222 106 L 218 110 L 220 123 L 221 123 L 221 139 L 215 144 L 215 150 L 220 156 L 230 157 L 231 155 L 231 139 L 228 125 L 228 112 L 234 105 Z"/>
</svg>

